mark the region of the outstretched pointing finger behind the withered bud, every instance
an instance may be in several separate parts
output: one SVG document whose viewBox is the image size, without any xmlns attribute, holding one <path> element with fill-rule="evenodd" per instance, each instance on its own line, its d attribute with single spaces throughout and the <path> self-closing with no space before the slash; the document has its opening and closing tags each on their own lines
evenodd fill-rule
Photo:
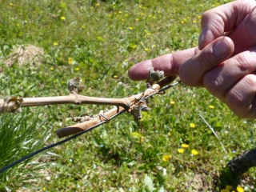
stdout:
<svg viewBox="0 0 256 192">
<path fill-rule="evenodd" d="M 177 75 L 182 63 L 194 56 L 197 50 L 198 48 L 195 47 L 139 62 L 130 68 L 128 75 L 132 80 L 144 80 L 147 78 L 148 71 L 151 67 L 154 67 L 154 70 L 163 70 L 165 76 Z"/>
</svg>

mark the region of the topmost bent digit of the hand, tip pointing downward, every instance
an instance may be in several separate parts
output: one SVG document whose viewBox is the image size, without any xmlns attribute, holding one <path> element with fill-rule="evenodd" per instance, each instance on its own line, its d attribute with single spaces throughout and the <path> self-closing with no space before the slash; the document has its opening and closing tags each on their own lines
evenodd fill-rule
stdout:
<svg viewBox="0 0 256 192">
<path fill-rule="evenodd" d="M 246 18 L 246 15 L 255 9 L 255 6 L 256 2 L 253 0 L 234 1 L 202 14 L 202 33 L 198 39 L 199 50 L 225 32 L 233 31 Z"/>
</svg>

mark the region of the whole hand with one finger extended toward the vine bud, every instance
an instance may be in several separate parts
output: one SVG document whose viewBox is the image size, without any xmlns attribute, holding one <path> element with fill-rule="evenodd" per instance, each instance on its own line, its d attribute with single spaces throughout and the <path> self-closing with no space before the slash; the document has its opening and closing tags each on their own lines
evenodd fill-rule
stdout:
<svg viewBox="0 0 256 192">
<path fill-rule="evenodd" d="M 198 47 L 132 66 L 133 80 L 150 67 L 179 75 L 188 86 L 205 87 L 241 118 L 256 118 L 256 1 L 238 0 L 202 14 Z"/>
</svg>

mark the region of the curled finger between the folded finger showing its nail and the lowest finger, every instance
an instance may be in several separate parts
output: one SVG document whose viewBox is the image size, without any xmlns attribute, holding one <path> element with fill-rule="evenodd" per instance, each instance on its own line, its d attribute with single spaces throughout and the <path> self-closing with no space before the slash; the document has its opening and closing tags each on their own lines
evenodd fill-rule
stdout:
<svg viewBox="0 0 256 192">
<path fill-rule="evenodd" d="M 247 50 L 207 72 L 203 78 L 203 84 L 211 94 L 225 102 L 226 91 L 255 70 L 256 50 Z"/>
</svg>

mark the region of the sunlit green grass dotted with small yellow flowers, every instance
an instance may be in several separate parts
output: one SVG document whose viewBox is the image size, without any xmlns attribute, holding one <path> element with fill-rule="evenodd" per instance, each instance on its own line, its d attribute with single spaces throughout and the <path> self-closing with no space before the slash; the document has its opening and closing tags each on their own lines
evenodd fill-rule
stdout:
<svg viewBox="0 0 256 192">
<path fill-rule="evenodd" d="M 66 84 L 75 76 L 88 96 L 141 92 L 146 84 L 128 78 L 130 66 L 197 46 L 202 13 L 226 2 L 2 0 L 0 95 L 69 94 Z M 10 54 L 27 45 L 42 47 L 43 61 L 7 67 Z M 255 122 L 237 118 L 204 89 L 179 84 L 150 99 L 150 107 L 139 124 L 122 114 L 14 166 L 0 174 L 0 191 L 214 191 L 226 163 L 256 144 Z M 55 131 L 72 125 L 72 117 L 106 108 L 42 106 L 2 114 L 0 168 L 58 142 Z M 255 191 L 255 169 L 242 180 L 242 189 Z"/>
</svg>

